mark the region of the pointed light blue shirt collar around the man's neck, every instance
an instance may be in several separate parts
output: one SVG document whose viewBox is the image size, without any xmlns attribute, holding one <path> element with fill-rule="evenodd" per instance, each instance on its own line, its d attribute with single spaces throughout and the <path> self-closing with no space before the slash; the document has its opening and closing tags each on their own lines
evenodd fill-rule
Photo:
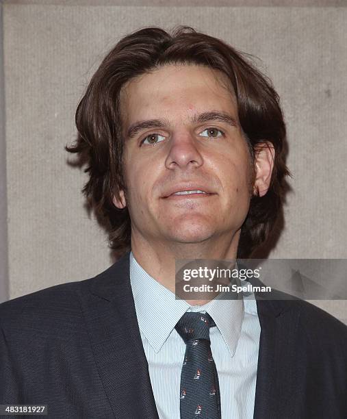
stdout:
<svg viewBox="0 0 347 419">
<path fill-rule="evenodd" d="M 244 318 L 244 301 L 216 299 L 205 305 L 190 306 L 175 298 L 175 294 L 153 279 L 138 264 L 133 253 L 129 255 L 130 283 L 140 331 L 149 340 L 155 352 L 159 352 L 175 325 L 187 311 L 207 312 L 214 319 L 231 356 L 236 351 Z"/>
</svg>

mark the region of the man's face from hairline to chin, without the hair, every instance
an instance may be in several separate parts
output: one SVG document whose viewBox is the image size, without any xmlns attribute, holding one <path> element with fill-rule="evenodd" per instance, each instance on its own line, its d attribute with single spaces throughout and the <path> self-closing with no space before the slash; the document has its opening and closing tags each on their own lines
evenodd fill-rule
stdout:
<svg viewBox="0 0 347 419">
<path fill-rule="evenodd" d="M 250 202 L 250 155 L 227 77 L 167 65 L 120 94 L 132 238 L 198 243 L 234 236 Z M 222 116 L 219 116 L 222 115 Z M 224 116 L 224 117 L 223 117 Z M 138 123 L 147 122 L 138 129 Z M 173 194 L 202 190 L 206 194 Z M 125 204 L 114 199 L 117 207 Z"/>
</svg>

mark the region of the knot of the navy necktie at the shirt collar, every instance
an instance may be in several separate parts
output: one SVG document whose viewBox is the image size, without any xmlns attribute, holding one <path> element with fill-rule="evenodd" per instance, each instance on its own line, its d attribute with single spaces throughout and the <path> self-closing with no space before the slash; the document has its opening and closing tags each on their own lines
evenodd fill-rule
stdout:
<svg viewBox="0 0 347 419">
<path fill-rule="evenodd" d="M 216 326 L 214 320 L 207 313 L 185 312 L 177 322 L 175 329 L 187 343 L 189 340 L 209 340 L 209 328 Z"/>
</svg>

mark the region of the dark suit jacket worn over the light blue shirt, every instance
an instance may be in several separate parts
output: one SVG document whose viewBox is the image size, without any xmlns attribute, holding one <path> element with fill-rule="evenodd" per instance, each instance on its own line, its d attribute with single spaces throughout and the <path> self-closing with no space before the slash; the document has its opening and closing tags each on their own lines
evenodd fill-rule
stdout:
<svg viewBox="0 0 347 419">
<path fill-rule="evenodd" d="M 305 301 L 263 297 L 254 418 L 346 419 L 347 327 Z M 129 253 L 92 279 L 1 304 L 0 324 L 0 404 L 47 404 L 49 418 L 158 418 Z"/>
</svg>

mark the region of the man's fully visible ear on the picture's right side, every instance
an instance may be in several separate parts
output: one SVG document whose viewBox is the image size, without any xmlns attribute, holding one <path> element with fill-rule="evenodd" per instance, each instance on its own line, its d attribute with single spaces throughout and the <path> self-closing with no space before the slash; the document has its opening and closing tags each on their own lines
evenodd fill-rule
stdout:
<svg viewBox="0 0 347 419">
<path fill-rule="evenodd" d="M 265 141 L 255 148 L 255 184 L 253 193 L 264 196 L 270 186 L 272 169 L 274 168 L 274 146 Z"/>
</svg>

